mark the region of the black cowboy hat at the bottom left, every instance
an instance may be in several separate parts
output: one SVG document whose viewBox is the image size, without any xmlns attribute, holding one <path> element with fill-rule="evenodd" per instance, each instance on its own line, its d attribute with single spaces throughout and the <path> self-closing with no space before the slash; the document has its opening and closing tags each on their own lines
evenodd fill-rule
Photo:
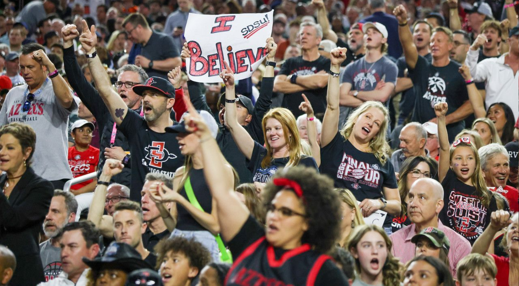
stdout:
<svg viewBox="0 0 519 286">
<path fill-rule="evenodd" d="M 136 269 L 151 268 L 147 262 L 142 260 L 141 254 L 124 242 L 112 242 L 103 256 L 88 260 L 83 257 L 83 262 L 93 270 L 99 271 L 102 267 L 109 269 L 120 269 L 130 273 Z"/>
</svg>

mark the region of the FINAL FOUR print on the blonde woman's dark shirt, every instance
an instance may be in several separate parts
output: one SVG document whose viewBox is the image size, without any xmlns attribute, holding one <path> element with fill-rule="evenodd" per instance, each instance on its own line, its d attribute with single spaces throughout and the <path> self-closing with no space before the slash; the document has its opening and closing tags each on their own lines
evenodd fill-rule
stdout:
<svg viewBox="0 0 519 286">
<path fill-rule="evenodd" d="M 337 179 L 377 188 L 380 181 L 380 167 L 353 159 L 343 153 L 343 160 L 337 170 Z"/>
</svg>

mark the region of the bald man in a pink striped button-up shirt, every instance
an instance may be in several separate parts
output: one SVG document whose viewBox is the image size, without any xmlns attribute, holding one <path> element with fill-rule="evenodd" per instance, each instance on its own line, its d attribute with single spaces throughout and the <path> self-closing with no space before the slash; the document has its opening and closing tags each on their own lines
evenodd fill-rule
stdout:
<svg viewBox="0 0 519 286">
<path fill-rule="evenodd" d="M 438 215 L 444 206 L 442 185 L 430 178 L 416 180 L 409 189 L 405 198 L 407 203 L 407 214 L 413 224 L 408 225 L 389 236 L 394 247 L 391 253 L 400 259 L 401 263 L 412 260 L 416 253 L 416 246 L 411 242 L 411 238 L 420 231 L 435 227 L 443 231 L 450 242 L 448 253 L 450 271 L 456 277 L 456 265 L 461 258 L 468 255 L 471 251 L 470 242 L 463 238 L 456 231 L 444 226 L 438 219 Z"/>
</svg>

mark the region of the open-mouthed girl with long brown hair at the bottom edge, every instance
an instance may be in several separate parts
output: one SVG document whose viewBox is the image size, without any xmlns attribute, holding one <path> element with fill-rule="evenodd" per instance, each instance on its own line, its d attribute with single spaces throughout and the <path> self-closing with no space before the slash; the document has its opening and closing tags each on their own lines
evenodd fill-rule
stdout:
<svg viewBox="0 0 519 286">
<path fill-rule="evenodd" d="M 355 258 L 357 277 L 352 286 L 400 284 L 400 262 L 391 254 L 392 243 L 384 229 L 365 224 L 353 229 L 347 248 Z"/>
</svg>

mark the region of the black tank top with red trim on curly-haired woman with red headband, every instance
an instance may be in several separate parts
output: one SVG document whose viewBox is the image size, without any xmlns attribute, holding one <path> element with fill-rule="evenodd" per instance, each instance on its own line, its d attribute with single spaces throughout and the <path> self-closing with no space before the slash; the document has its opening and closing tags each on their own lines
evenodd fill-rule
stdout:
<svg viewBox="0 0 519 286">
<path fill-rule="evenodd" d="M 274 248 L 263 236 L 238 256 L 225 285 L 312 286 L 327 260 L 331 257 L 311 250 L 309 244 L 286 251 L 278 260 Z"/>
</svg>

